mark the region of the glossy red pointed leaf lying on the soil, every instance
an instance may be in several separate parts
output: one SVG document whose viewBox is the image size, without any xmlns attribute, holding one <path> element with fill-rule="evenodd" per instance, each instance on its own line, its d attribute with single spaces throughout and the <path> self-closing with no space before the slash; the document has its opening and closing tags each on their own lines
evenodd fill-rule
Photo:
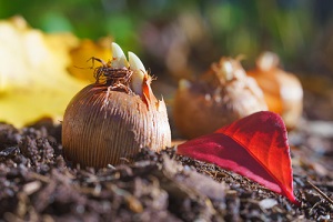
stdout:
<svg viewBox="0 0 333 222">
<path fill-rule="evenodd" d="M 256 112 L 180 144 L 178 154 L 236 172 L 300 204 L 293 194 L 286 129 L 273 112 Z"/>
</svg>

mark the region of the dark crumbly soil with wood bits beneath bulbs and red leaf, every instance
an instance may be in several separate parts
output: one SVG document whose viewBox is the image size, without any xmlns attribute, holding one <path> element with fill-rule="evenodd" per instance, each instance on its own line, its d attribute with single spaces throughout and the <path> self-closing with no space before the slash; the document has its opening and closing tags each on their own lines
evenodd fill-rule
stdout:
<svg viewBox="0 0 333 222">
<path fill-rule="evenodd" d="M 319 123 L 320 124 L 320 123 Z M 0 221 L 330 221 L 333 140 L 312 122 L 290 133 L 291 204 L 213 164 L 142 150 L 134 163 L 80 169 L 62 157 L 61 125 L 0 124 Z M 321 129 L 321 128 L 319 128 Z"/>
</svg>

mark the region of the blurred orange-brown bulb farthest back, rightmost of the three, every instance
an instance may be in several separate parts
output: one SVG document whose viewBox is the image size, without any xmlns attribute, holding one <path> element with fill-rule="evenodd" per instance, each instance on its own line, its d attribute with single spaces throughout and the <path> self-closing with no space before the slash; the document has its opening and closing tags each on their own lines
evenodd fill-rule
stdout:
<svg viewBox="0 0 333 222">
<path fill-rule="evenodd" d="M 264 92 L 269 110 L 281 114 L 289 130 L 295 128 L 303 112 L 303 89 L 296 75 L 279 68 L 280 59 L 262 53 L 254 70 L 248 71 Z"/>
</svg>

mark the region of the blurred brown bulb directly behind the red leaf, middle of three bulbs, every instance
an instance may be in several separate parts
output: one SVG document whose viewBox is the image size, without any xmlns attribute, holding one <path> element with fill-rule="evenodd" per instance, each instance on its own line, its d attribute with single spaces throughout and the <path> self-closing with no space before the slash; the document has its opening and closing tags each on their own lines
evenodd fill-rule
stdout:
<svg viewBox="0 0 333 222">
<path fill-rule="evenodd" d="M 180 81 L 173 115 L 179 132 L 195 138 L 266 109 L 261 89 L 241 63 L 222 58 L 198 80 Z"/>
</svg>

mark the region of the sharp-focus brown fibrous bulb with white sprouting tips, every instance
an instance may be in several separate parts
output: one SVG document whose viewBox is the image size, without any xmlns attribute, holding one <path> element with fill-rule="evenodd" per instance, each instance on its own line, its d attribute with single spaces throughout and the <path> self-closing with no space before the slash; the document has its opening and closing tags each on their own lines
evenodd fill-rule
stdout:
<svg viewBox="0 0 333 222">
<path fill-rule="evenodd" d="M 97 83 L 82 89 L 63 117 L 64 155 L 83 167 L 120 164 L 142 148 L 171 145 L 167 108 L 152 93 L 150 75 L 137 56 L 127 62 L 112 47 L 113 59 L 95 69 Z"/>
</svg>

